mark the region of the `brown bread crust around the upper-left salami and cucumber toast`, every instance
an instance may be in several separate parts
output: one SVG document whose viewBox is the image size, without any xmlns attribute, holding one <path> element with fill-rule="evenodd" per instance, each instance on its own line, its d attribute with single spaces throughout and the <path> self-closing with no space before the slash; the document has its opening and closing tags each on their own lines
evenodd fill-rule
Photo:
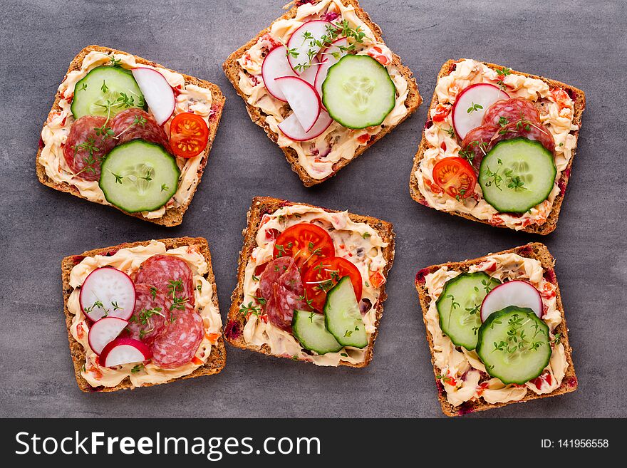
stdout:
<svg viewBox="0 0 627 468">
<path fill-rule="evenodd" d="M 70 73 L 71 71 L 80 70 L 81 65 L 83 64 L 83 59 L 87 56 L 88 53 L 92 51 L 98 51 L 98 52 L 104 52 L 104 53 L 122 53 L 125 55 L 133 55 L 131 53 L 118 51 L 116 49 L 109 48 L 109 47 L 87 46 L 86 48 L 83 48 L 83 50 L 80 51 L 76 57 L 73 58 L 72 62 L 70 63 L 70 67 L 68 68 L 68 73 Z M 170 68 L 166 68 L 160 65 L 159 63 L 146 60 L 145 58 L 142 58 L 140 56 L 134 56 L 134 57 L 135 57 L 135 61 L 137 61 L 138 63 L 141 63 L 142 65 L 165 68 L 166 70 L 172 71 L 174 73 L 180 73 L 178 71 L 170 70 Z M 209 152 L 211 151 L 211 147 L 213 145 L 213 140 L 217 132 L 220 118 L 222 117 L 222 109 L 224 108 L 224 101 L 225 101 L 224 95 L 222 94 L 222 90 L 220 90 L 220 88 L 217 85 L 214 85 L 213 83 L 209 83 L 209 81 L 205 81 L 199 78 L 195 78 L 193 76 L 185 75 L 185 73 L 180 73 L 180 74 L 183 76 L 183 78 L 185 78 L 185 85 L 197 85 L 197 86 L 200 86 L 201 88 L 207 88 L 211 90 L 212 108 L 215 109 L 215 113 L 214 113 L 215 117 L 214 118 L 212 117 L 209 120 L 209 141 L 207 142 L 207 147 L 204 149 L 204 157 L 202 158 L 200 165 L 198 167 L 198 172 L 197 172 L 198 182 L 196 186 L 193 187 L 192 189 L 192 194 L 190 196 L 190 199 L 187 200 L 187 203 L 185 203 L 184 205 L 180 207 L 167 208 L 165 210 L 165 214 L 162 217 L 154 218 L 154 219 L 143 217 L 141 213 L 128 213 L 128 212 L 125 212 L 123 209 L 110 205 L 111 207 L 118 209 L 120 212 L 123 212 L 124 214 L 128 214 L 129 216 L 143 219 L 145 221 L 149 221 L 155 224 L 161 224 L 162 226 L 168 226 L 168 227 L 177 226 L 182 223 L 183 215 L 185 214 L 185 211 L 187 211 L 187 208 L 190 206 L 190 203 L 192 202 L 192 198 L 194 197 L 198 184 L 200 183 L 200 180 L 202 178 L 204 167 L 207 165 L 207 160 L 209 159 Z M 65 80 L 66 77 L 67 77 L 67 74 L 65 77 L 63 77 L 63 80 Z M 48 118 L 51 118 L 51 115 L 53 113 L 61 110 L 61 107 L 59 106 L 58 103 L 62 98 L 63 96 L 61 95 L 61 93 L 57 91 L 56 98 L 52 105 L 52 109 L 50 113 L 48 114 Z M 46 126 L 46 122 L 43 123 L 43 126 Z M 36 157 L 36 172 L 37 172 L 37 178 L 39 182 L 41 182 L 44 185 L 47 185 L 48 187 L 52 187 L 53 189 L 58 190 L 59 192 L 68 192 L 70 194 L 73 194 L 76 197 L 87 199 L 86 197 L 83 197 L 83 195 L 81 195 L 81 193 L 78 192 L 78 189 L 76 189 L 76 187 L 74 187 L 73 185 L 68 184 L 66 182 L 55 182 L 50 177 L 48 177 L 48 175 L 46 174 L 46 168 L 43 167 L 43 165 L 41 165 L 41 162 L 39 162 L 39 155 L 41 155 L 41 150 L 43 150 L 43 145 L 40 145 L 40 148 L 37 152 L 37 157 Z M 91 200 L 88 200 L 88 201 L 91 201 Z M 100 202 L 93 202 L 93 203 L 103 204 Z"/>
</svg>

